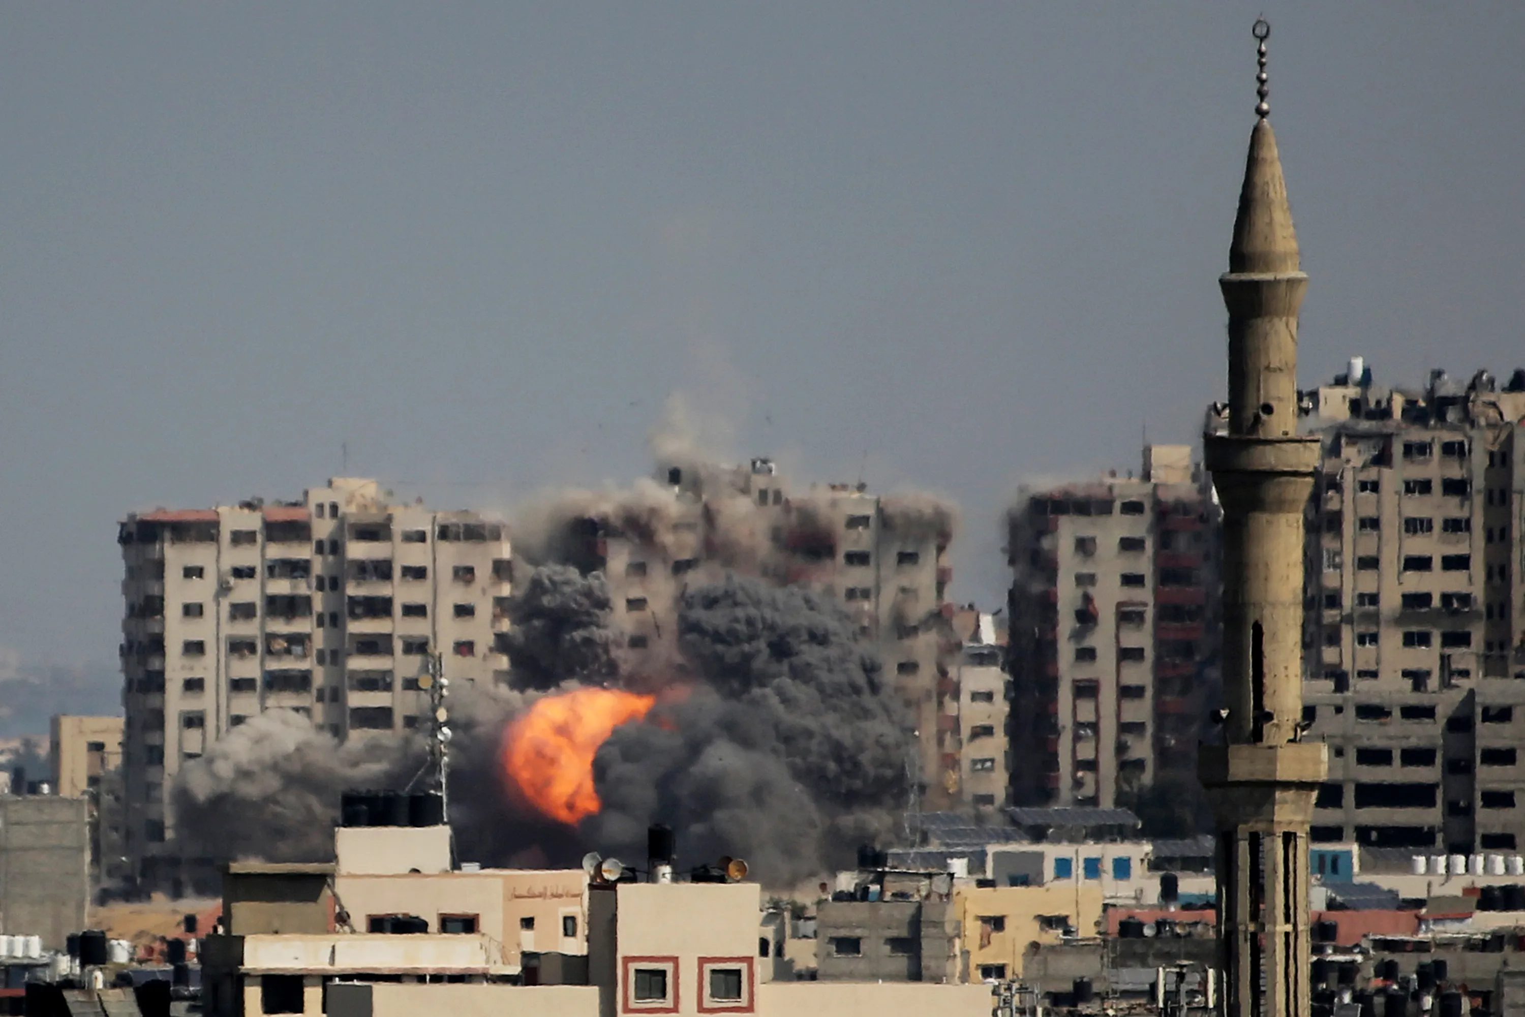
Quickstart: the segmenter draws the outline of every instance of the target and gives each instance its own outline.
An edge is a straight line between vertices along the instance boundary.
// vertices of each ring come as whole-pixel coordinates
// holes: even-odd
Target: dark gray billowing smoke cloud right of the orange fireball
[[[892,837],[910,724],[836,602],[729,576],[685,593],[679,631],[700,683],[599,750],[595,846],[636,858],[663,822],[685,863],[791,886]]]

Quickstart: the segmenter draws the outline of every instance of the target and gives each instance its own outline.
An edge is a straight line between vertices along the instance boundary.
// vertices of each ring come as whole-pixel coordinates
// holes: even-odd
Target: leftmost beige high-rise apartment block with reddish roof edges
[[[336,738],[427,726],[418,677],[506,679],[512,566],[502,521],[387,505],[339,477],[300,502],[128,515],[122,675],[131,878],[181,872],[171,782],[268,709]]]

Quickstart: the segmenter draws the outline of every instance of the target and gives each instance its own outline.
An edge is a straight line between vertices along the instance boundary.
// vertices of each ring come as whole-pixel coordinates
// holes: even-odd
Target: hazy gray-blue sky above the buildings
[[[114,660],[130,509],[508,506],[671,392],[994,596],[1019,480],[1225,387],[1263,9],[1304,384],[1525,364],[1519,3],[5,5],[0,654]]]

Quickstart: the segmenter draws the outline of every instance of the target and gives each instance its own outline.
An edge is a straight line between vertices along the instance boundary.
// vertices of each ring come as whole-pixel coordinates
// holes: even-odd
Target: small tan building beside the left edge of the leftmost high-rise
[[[49,755],[53,793],[82,797],[90,814],[90,869],[95,883],[122,880],[122,723],[120,717],[55,714]]]

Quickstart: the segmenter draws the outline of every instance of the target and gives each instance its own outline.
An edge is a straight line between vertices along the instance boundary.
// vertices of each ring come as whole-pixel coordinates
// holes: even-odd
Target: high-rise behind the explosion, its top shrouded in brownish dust
[[[569,558],[608,578],[625,666],[680,666],[677,599],[727,570],[833,596],[877,648],[912,711],[920,804],[936,810],[958,802],[961,738],[950,680],[958,645],[944,613],[950,511],[923,496],[869,494],[863,485],[791,492],[769,459],[659,464],[654,480],[640,500],[569,521]]]

